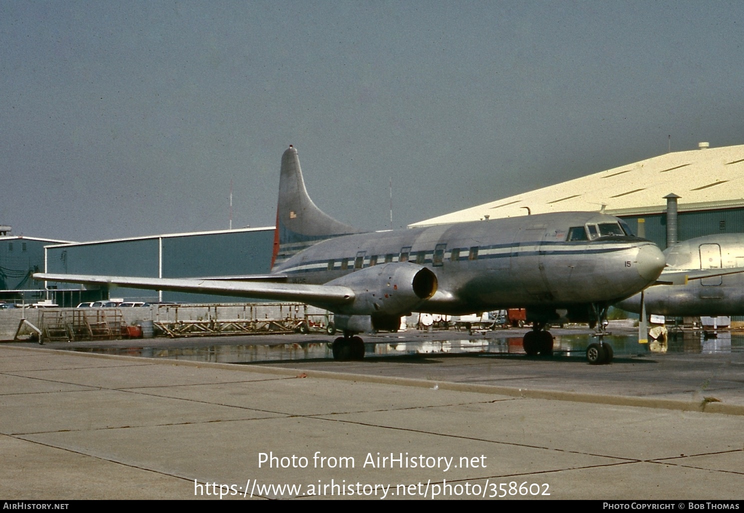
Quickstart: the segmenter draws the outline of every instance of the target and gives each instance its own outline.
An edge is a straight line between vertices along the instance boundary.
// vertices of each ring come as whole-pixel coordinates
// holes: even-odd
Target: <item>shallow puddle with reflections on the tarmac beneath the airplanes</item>
[[[656,353],[730,353],[744,351],[744,334],[719,332],[717,338],[705,339],[700,332],[670,334],[667,341],[650,341],[650,344],[639,344],[638,337],[632,335],[615,335],[606,337],[615,348],[615,357],[631,357]],[[199,345],[195,342],[190,347],[109,347],[87,346],[71,348],[105,354],[127,354],[150,358],[172,358],[174,360],[191,360],[197,362],[217,363],[259,363],[291,360],[333,359],[330,344],[324,341],[283,343],[283,344],[213,344]],[[555,337],[555,360],[564,357],[584,357],[586,346],[594,342],[594,337],[586,334],[561,335]],[[183,343],[181,342],[181,345]],[[522,350],[520,338],[493,338],[475,340],[411,340],[409,337],[391,338],[390,342],[365,344],[365,357],[394,357],[414,354],[483,354],[483,355],[519,355]]]

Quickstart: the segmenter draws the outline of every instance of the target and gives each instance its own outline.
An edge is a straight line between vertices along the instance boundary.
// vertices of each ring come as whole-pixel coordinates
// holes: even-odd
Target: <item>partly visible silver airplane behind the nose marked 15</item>
[[[744,234],[705,235],[664,250],[667,268],[655,287],[615,305],[668,316],[744,315]],[[642,298],[641,298],[642,296]],[[645,315],[644,315],[645,317]]]

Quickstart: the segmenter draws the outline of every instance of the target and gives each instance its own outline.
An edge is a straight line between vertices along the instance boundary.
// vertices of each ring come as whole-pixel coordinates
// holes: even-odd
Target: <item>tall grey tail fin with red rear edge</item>
[[[352,233],[363,230],[333,219],[312,203],[302,179],[297,150],[290,145],[281,158],[272,267],[320,240]]]

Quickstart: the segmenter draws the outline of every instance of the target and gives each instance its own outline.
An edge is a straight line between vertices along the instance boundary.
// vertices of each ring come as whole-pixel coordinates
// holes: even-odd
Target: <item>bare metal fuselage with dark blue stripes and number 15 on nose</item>
[[[416,307],[429,313],[609,304],[652,283],[664,261],[648,240],[567,241],[571,227],[603,222],[617,218],[564,212],[344,235],[310,246],[273,272],[292,283],[326,284],[408,261],[436,275],[437,292]]]

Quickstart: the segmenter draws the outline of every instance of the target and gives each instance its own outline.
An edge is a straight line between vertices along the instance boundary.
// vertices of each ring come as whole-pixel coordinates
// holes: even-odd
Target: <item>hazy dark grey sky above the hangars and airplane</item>
[[[0,224],[95,240],[405,226],[744,143],[741,1],[0,1]],[[661,191],[666,193],[668,191]]]

